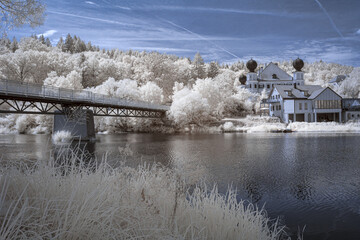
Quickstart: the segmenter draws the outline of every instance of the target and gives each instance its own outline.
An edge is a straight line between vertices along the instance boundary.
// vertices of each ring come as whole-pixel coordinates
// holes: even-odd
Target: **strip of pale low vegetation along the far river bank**
[[[222,133],[222,132],[360,132],[360,122],[294,122],[281,123],[278,118],[251,116],[224,118],[203,124],[176,126],[164,124],[159,119],[95,118],[98,134],[133,133]],[[52,133],[52,116],[7,115],[0,118],[0,134],[49,134]]]

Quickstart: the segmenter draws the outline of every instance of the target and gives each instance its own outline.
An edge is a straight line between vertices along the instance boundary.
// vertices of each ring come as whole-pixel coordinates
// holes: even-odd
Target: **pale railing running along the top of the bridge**
[[[40,84],[30,84],[18,81],[0,80],[0,93],[6,95],[21,95],[24,97],[41,97],[56,100],[85,101],[96,104],[109,104],[121,107],[142,108],[167,111],[168,107],[143,101],[128,101],[86,90],[71,90]],[[60,102],[59,102],[60,103]]]

